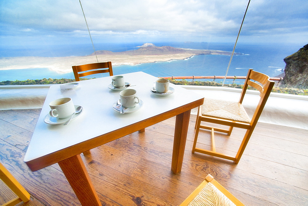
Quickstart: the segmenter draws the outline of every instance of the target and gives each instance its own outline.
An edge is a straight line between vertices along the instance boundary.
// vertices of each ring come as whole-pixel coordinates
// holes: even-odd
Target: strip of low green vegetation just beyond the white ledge
[[[80,80],[87,80],[87,78],[80,78]],[[180,84],[180,85],[196,85],[196,86],[222,86],[222,82],[215,81],[187,81],[187,80],[171,80],[172,84]],[[24,80],[24,81],[2,81],[0,85],[29,85],[29,84],[64,84],[69,82],[74,82],[75,79],[41,79],[41,80]],[[226,87],[238,88],[242,89],[242,84],[224,84]],[[248,88],[254,89],[254,88]],[[285,94],[297,94],[297,95],[305,95],[308,96],[308,89],[297,89],[297,88],[280,88],[274,87],[272,92],[276,93],[285,93]]]

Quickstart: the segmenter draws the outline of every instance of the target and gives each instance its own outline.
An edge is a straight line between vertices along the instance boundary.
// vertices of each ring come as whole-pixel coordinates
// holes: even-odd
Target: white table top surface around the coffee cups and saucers
[[[120,99],[120,91],[111,90],[111,76],[79,81],[79,86],[70,93],[61,94],[60,85],[52,85],[33,132],[24,161],[28,162],[58,150],[71,147],[91,138],[98,137],[136,122],[146,120],[191,102],[203,99],[199,94],[170,84],[175,92],[160,97],[150,92],[158,79],[144,72],[123,74],[125,82],[136,89],[137,96],[144,102],[143,107],[134,112],[120,114],[112,105]],[[62,97],[71,97],[74,105],[81,105],[83,113],[68,125],[49,125],[44,117],[49,113],[49,103]]]

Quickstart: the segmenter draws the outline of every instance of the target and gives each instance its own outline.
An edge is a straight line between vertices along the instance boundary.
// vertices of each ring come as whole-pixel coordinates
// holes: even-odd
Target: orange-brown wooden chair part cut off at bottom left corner
[[[18,196],[2,205],[16,205],[20,202],[30,200],[30,194],[24,187],[13,177],[13,175],[0,163],[0,179]]]

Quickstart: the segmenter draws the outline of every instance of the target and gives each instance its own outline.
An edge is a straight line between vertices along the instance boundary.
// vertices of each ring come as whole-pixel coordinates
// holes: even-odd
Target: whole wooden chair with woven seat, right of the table
[[[252,81],[254,80],[254,81]],[[259,82],[260,84],[256,83]],[[257,89],[260,92],[260,101],[257,105],[255,112],[253,113],[253,117],[250,119],[242,106],[243,98],[246,93],[247,87],[251,86]],[[253,69],[249,69],[243,90],[241,92],[241,96],[238,102],[230,102],[230,101],[222,101],[222,100],[214,100],[214,99],[206,99],[204,100],[204,104],[199,106],[197,120],[196,120],[196,135],[193,143],[193,151],[200,152],[207,155],[212,155],[215,157],[220,157],[224,159],[233,160],[236,164],[239,162],[245,147],[249,141],[251,134],[257,124],[257,121],[262,113],[262,110],[265,106],[265,103],[270,96],[270,92],[274,86],[274,81],[270,80],[270,77],[253,71]],[[220,125],[229,126],[229,130],[210,127],[201,125],[201,121],[203,122],[211,122]],[[225,155],[222,153],[216,152],[215,148],[215,139],[214,139],[214,131],[227,133],[230,135],[233,127],[246,129],[245,136],[241,142],[241,146],[239,147],[237,154],[235,157]],[[199,129],[208,129],[211,130],[212,136],[212,150],[204,150],[200,148],[196,148],[197,138]]]

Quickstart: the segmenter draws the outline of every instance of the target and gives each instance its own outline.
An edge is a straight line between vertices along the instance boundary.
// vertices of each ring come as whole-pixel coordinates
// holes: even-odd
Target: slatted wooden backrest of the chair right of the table
[[[256,83],[256,81],[258,83]],[[259,96],[261,98],[255,112],[253,113],[253,117],[250,121],[251,126],[254,127],[257,124],[258,119],[264,109],[265,103],[268,97],[270,96],[270,92],[274,87],[274,84],[275,82],[271,81],[269,76],[262,74],[260,72],[253,71],[253,69],[249,69],[239,102],[240,103],[243,102],[248,85],[257,89],[260,92]]]

